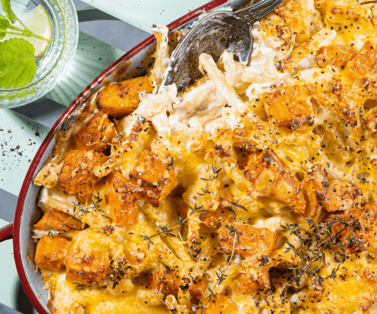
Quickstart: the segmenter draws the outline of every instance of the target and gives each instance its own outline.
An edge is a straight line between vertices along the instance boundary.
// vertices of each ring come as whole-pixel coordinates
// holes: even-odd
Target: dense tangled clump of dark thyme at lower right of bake
[[[294,267],[289,267],[289,269],[295,275],[291,280],[295,280],[296,284],[300,285],[301,277],[304,274],[313,275],[317,273],[322,265],[326,265],[326,255],[325,249],[336,249],[337,254],[341,256],[341,260],[338,263],[337,268],[332,270],[332,273],[326,278],[333,278],[336,275],[336,272],[339,270],[340,266],[344,263],[346,258],[346,251],[348,246],[351,242],[359,244],[360,242],[356,239],[355,232],[353,228],[357,228],[359,225],[358,219],[352,219],[350,222],[347,222],[337,216],[334,217],[334,220],[328,221],[322,224],[316,224],[310,219],[306,219],[309,226],[300,226],[298,224],[287,224],[287,226],[281,226],[283,228],[282,233],[290,232],[290,235],[295,234],[300,241],[302,242],[302,248],[297,249],[293,244],[287,241],[288,247],[286,247],[287,251],[293,251],[295,253],[295,257],[299,257],[301,261],[298,265]],[[335,223],[340,223],[343,227],[334,235],[332,235],[332,227]],[[303,238],[300,233],[298,232],[299,228],[309,228],[311,231],[310,236],[308,238]],[[349,235],[346,239],[346,247],[344,248],[342,245],[341,240],[339,239],[339,235],[345,231],[349,230]],[[318,263],[318,265],[313,268],[313,266]]]

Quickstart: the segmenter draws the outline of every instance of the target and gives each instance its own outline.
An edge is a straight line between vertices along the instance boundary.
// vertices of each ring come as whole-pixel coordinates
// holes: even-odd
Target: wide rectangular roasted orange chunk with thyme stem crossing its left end
[[[258,253],[271,254],[277,235],[266,228],[258,229],[252,226],[235,225],[234,223],[226,224],[220,228],[219,252],[225,254],[232,252],[234,238],[236,239],[234,253],[246,257]]]

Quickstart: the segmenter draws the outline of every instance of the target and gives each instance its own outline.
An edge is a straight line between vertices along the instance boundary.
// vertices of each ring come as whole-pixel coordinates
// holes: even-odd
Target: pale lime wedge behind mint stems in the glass
[[[46,39],[51,39],[51,21],[48,17],[46,10],[42,7],[42,5],[37,6],[24,16],[20,15],[19,18],[22,21],[22,23],[34,34]],[[24,29],[24,27],[18,21],[13,25],[18,28]],[[5,41],[11,38],[23,38],[30,42],[34,46],[35,56],[44,54],[48,48],[47,41],[35,37],[7,34],[1,41]]]

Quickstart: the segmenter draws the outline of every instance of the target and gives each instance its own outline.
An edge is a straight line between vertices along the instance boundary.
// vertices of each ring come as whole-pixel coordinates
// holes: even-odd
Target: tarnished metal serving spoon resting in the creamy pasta
[[[215,61],[228,50],[237,61],[246,64],[253,47],[251,26],[270,14],[283,0],[261,0],[245,9],[229,12],[217,11],[209,14],[186,34],[173,51],[169,61],[171,70],[163,79],[163,85],[175,83],[178,92],[199,79],[201,53],[211,55]]]

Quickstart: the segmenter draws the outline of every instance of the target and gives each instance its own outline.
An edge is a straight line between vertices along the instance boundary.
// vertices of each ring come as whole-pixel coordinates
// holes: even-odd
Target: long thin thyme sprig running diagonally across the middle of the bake
[[[215,181],[217,179],[217,177],[219,176],[219,173],[220,173],[220,171],[222,169],[223,168],[217,169],[216,167],[212,166],[212,171],[213,171],[214,175],[210,176],[209,178],[201,178],[201,179],[204,180],[204,181]],[[165,227],[157,226],[158,228],[161,229],[160,232],[158,232],[158,233],[156,233],[154,235],[151,235],[151,236],[139,235],[139,237],[143,238],[143,240],[147,240],[148,241],[148,250],[149,250],[150,245],[153,244],[153,241],[151,240],[152,238],[154,238],[156,236],[159,236],[161,234],[165,234],[168,237],[176,237],[174,234],[171,233],[175,228],[177,228],[177,227],[185,224],[187,222],[187,220],[189,220],[189,218],[191,216],[193,216],[194,214],[203,214],[203,213],[207,213],[208,212],[207,210],[202,210],[203,205],[201,205],[201,202],[204,199],[204,195],[212,193],[209,190],[209,187],[210,187],[210,185],[207,183],[205,188],[202,187],[202,191],[201,192],[197,192],[197,194],[201,195],[202,197],[201,197],[201,199],[200,199],[200,201],[198,203],[195,203],[194,207],[192,207],[190,204],[186,203],[187,207],[190,208],[191,212],[183,220],[181,219],[181,217],[179,217],[179,220],[178,219],[174,220],[174,222],[177,223],[177,225],[175,225],[174,227],[171,227],[171,228],[168,228],[167,226],[165,226]]]

